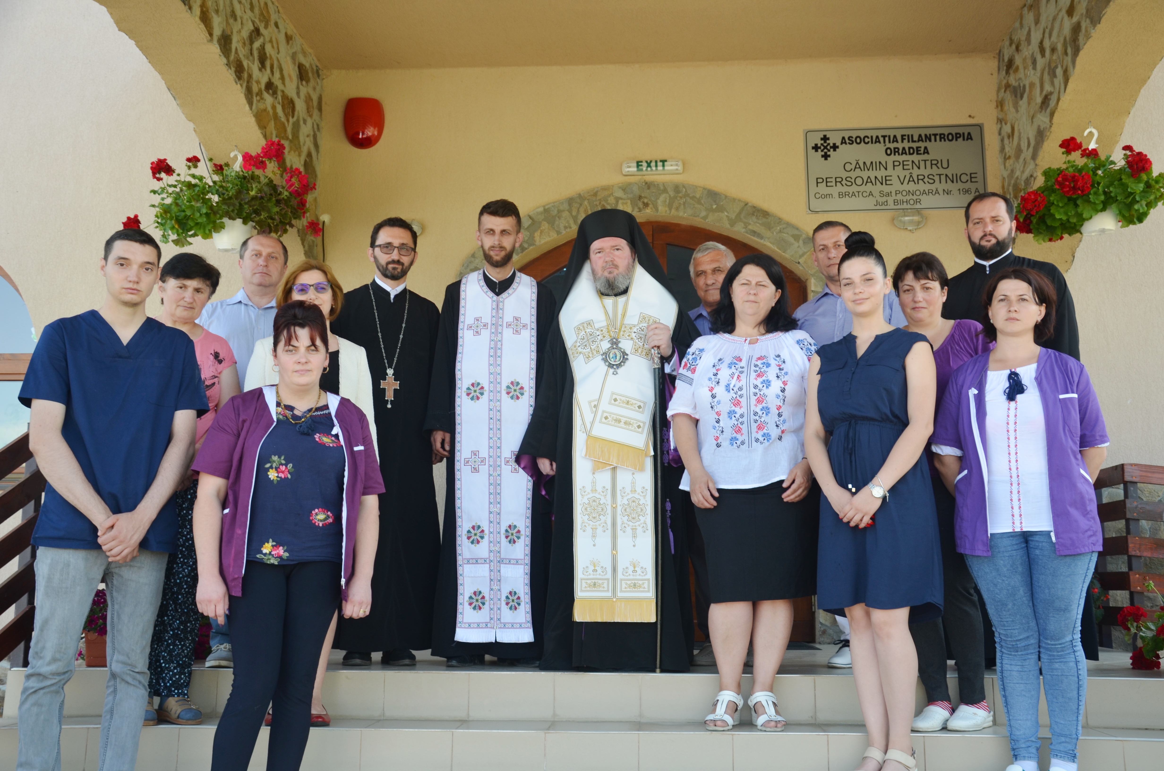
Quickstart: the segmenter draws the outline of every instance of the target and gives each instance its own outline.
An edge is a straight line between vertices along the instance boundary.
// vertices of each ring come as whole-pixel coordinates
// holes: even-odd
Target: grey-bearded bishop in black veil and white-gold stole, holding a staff
[[[665,473],[656,496],[655,464],[668,453],[652,438],[666,410],[652,348],[674,372],[698,332],[627,212],[582,220],[566,278],[519,450],[555,480],[541,669],[653,671],[659,644],[658,665],[683,672],[691,652],[688,574],[679,565],[686,523],[682,507],[667,507],[683,494]]]

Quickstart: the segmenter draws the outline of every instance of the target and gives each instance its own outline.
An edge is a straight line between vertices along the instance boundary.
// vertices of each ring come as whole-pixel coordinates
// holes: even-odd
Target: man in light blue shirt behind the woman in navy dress
[[[853,316],[840,299],[840,257],[845,254],[845,239],[852,233],[844,222],[829,220],[812,231],[812,263],[824,276],[821,293],[796,309],[793,318],[797,326],[812,335],[818,346],[836,342],[853,331]],[[901,312],[897,292],[889,291],[883,300],[885,320],[894,326],[909,321]]]

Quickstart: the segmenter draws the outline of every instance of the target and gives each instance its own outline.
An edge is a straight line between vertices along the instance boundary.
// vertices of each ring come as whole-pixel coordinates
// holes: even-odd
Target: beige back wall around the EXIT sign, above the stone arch
[[[803,129],[982,122],[987,177],[999,182],[996,57],[336,71],[324,82],[320,211],[326,257],[346,285],[370,278],[371,225],[424,226],[410,287],[440,302],[475,247],[481,204],[523,211],[598,185],[630,182],[632,158],[681,158],[656,178],[711,188],[804,228]],[[357,150],[343,137],[350,97],[384,104],[385,135]],[[960,270],[971,257],[960,211],[927,212],[915,234],[892,213],[844,214],[890,262],[931,250]]]

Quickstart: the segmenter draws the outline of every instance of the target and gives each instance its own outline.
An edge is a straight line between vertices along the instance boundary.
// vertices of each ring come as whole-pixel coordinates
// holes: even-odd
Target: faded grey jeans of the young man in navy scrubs
[[[142,550],[126,564],[100,549],[36,550],[36,627],[20,693],[17,771],[61,771],[65,684],[98,583],[109,602],[109,673],[101,713],[100,771],[133,771],[146,709],[149,644],[169,554]]]

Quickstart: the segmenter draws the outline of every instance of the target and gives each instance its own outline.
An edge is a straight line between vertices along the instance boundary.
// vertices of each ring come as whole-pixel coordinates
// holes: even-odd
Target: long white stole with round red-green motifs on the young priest
[[[533,480],[518,467],[517,450],[537,388],[538,284],[519,273],[496,296],[483,273],[461,278],[457,319],[454,638],[531,643]]]

